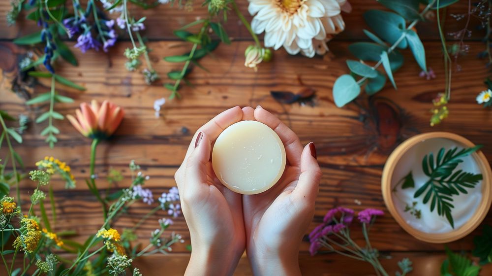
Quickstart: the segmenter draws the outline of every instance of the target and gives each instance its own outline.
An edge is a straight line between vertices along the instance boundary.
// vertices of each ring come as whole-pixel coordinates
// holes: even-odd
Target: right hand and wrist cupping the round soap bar
[[[299,247],[314,214],[321,171],[311,142],[302,147],[297,135],[258,106],[244,109],[243,120],[272,128],[287,155],[285,171],[270,190],[243,195],[246,253],[254,275],[300,275]]]

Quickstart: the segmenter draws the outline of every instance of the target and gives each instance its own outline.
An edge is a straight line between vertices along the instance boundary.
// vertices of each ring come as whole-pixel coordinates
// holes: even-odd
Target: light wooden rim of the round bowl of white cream
[[[413,228],[412,226],[410,226],[405,222],[405,220],[401,217],[400,213],[395,207],[395,203],[393,202],[393,196],[391,191],[392,190],[391,181],[393,178],[392,176],[398,162],[407,151],[411,150],[416,144],[433,138],[450,139],[457,142],[458,144],[461,144],[463,147],[475,146],[475,144],[473,144],[470,140],[461,137],[457,134],[448,133],[448,132],[424,133],[409,138],[403,143],[401,143],[388,157],[381,178],[381,190],[386,207],[390,211],[391,215],[398,222],[398,224],[400,224],[400,226],[406,232],[408,232],[408,234],[424,242],[431,242],[431,243],[453,242],[470,234],[473,230],[475,230],[475,228],[477,228],[480,225],[482,220],[487,215],[492,202],[492,191],[491,191],[492,171],[489,162],[487,161],[487,158],[485,158],[485,155],[481,151],[476,151],[471,155],[475,159],[475,162],[477,163],[477,166],[483,175],[482,201],[480,205],[477,207],[476,212],[473,214],[473,216],[460,228],[454,229],[451,232],[447,232],[447,233],[425,233]]]

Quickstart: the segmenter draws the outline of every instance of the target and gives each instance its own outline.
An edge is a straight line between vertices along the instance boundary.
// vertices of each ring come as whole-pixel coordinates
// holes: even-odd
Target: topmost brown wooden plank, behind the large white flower
[[[84,4],[86,1],[81,1]],[[381,4],[375,0],[351,0],[353,10],[351,13],[343,13],[343,18],[346,24],[346,30],[339,35],[337,39],[359,40],[367,39],[363,33],[363,29],[368,27],[364,23],[363,14],[369,9],[385,9]],[[251,22],[251,16],[247,12],[248,1],[237,1],[240,10],[245,14],[246,19]],[[202,2],[195,2],[192,6],[185,9],[180,9],[176,5],[159,5],[149,10],[143,10],[137,6],[130,5],[130,13],[140,18],[147,17],[146,25],[147,30],[145,34],[150,39],[176,39],[173,36],[173,30],[177,30],[187,23],[193,22],[197,18],[205,18],[207,16],[207,7],[202,7]],[[462,14],[468,9],[468,1],[460,1],[452,5],[448,9],[448,14]],[[9,1],[0,1],[0,17],[5,18],[7,12],[10,10]],[[27,14],[23,13],[20,19]],[[110,15],[110,17],[116,18],[118,15]],[[435,12],[431,12],[430,20],[427,23],[420,23],[417,25],[419,35],[422,39],[436,40],[438,39],[438,30],[435,22]],[[452,17],[448,17],[446,21],[446,33],[452,33],[460,31],[464,28],[466,20],[457,21]],[[485,32],[476,30],[476,26],[479,25],[479,21],[476,17],[471,18],[470,30],[472,34],[470,37],[466,36],[465,40],[480,40],[484,37]],[[159,26],[159,27],[157,27]],[[251,40],[251,36],[247,33],[246,28],[242,25],[238,17],[234,12],[228,13],[228,23],[225,24],[227,33],[238,40],[248,39]],[[37,31],[38,27],[35,22],[28,20],[19,20],[16,26],[7,26],[5,20],[0,20],[0,38],[12,39],[21,35],[26,35]]]

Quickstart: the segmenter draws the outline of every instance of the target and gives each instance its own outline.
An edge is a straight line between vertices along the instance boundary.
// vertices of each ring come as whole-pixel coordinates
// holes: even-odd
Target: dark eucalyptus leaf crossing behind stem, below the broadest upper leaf
[[[388,47],[371,43],[371,42],[356,42],[348,46],[348,50],[358,59],[363,61],[378,62],[382,51],[387,51]],[[389,55],[391,69],[396,71],[403,65],[403,55],[394,50]]]

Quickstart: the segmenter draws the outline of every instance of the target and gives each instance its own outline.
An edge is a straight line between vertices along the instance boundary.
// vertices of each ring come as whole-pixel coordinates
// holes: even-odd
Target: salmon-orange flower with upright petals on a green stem
[[[120,126],[124,111],[120,106],[108,101],[101,105],[92,100],[91,105],[80,104],[80,109],[75,110],[76,117],[66,117],[83,136],[90,138],[108,138]]]

